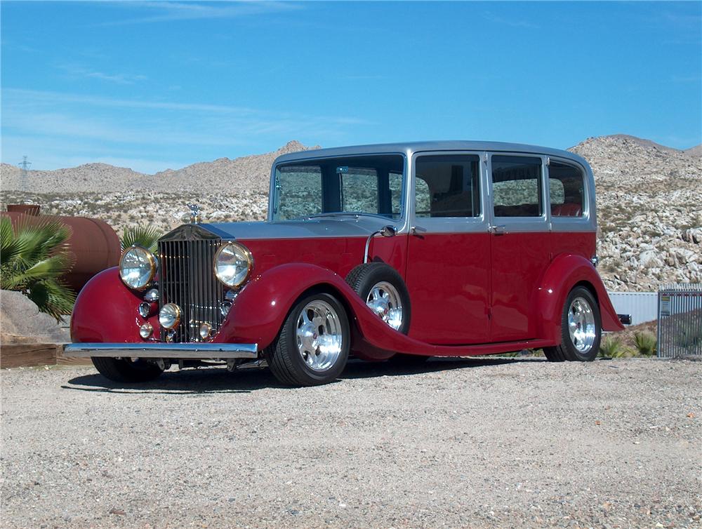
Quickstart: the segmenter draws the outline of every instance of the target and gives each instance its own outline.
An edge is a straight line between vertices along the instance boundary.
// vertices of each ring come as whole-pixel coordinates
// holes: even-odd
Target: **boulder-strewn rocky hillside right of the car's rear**
[[[569,149],[595,173],[600,273],[613,290],[702,282],[702,156],[633,136]]]

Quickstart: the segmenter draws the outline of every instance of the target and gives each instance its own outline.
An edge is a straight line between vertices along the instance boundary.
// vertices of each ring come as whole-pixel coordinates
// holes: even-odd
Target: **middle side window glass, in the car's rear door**
[[[541,158],[493,156],[492,197],[496,217],[541,217]]]

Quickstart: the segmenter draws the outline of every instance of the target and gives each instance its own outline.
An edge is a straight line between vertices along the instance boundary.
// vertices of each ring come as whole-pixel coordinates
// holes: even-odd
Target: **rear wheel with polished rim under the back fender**
[[[602,320],[595,297],[585,287],[570,291],[561,314],[561,344],[543,349],[552,362],[595,360],[600,351]]]

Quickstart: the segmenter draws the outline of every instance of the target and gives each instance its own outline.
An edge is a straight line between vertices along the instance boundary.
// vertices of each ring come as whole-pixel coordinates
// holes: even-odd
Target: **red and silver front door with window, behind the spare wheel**
[[[489,340],[490,239],[482,154],[425,152],[411,160],[406,283],[410,336],[432,344]]]

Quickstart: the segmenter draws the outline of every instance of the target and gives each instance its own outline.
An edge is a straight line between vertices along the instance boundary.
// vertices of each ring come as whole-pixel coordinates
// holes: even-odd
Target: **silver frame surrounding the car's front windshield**
[[[359,212],[359,211],[327,211],[327,212],[322,212],[322,213],[317,213],[317,214],[310,214],[310,215],[304,215],[301,217],[296,217],[296,218],[291,218],[291,219],[284,219],[284,220],[277,220],[274,218],[274,210],[277,206],[277,203],[279,201],[279,189],[277,186],[277,180],[276,180],[276,173],[277,169],[280,166],[289,166],[289,165],[304,165],[305,163],[309,163],[310,165],[315,165],[317,163],[324,163],[328,162],[329,160],[334,160],[334,159],[352,159],[352,158],[368,158],[368,157],[376,157],[376,156],[401,156],[402,157],[402,185],[400,188],[400,193],[399,193],[399,198],[400,198],[400,215],[397,218],[393,217],[388,217],[386,215],[381,215],[379,213],[366,213],[366,212]],[[319,219],[319,218],[333,218],[334,215],[338,215],[339,217],[345,217],[345,216],[362,216],[362,217],[372,217],[372,218],[377,218],[378,220],[384,220],[385,222],[388,222],[390,224],[395,224],[398,226],[404,225],[406,222],[406,219],[408,218],[408,203],[407,203],[407,193],[409,189],[409,156],[407,155],[406,152],[359,152],[355,154],[343,154],[343,155],[336,155],[336,156],[310,156],[309,158],[303,158],[303,159],[296,159],[294,161],[287,160],[287,161],[279,161],[277,163],[273,163],[273,166],[271,168],[271,174],[270,174],[270,190],[269,190],[269,200],[268,200],[268,215],[267,215],[267,221],[268,222],[300,222],[304,220],[310,220],[311,218],[313,219]]]

